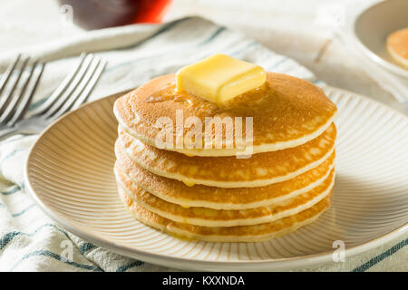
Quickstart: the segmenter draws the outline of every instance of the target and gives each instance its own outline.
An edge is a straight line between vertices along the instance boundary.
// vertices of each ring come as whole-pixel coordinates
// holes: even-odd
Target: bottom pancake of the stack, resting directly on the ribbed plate
[[[296,215],[280,218],[270,223],[238,227],[200,227],[163,218],[133,202],[123,192],[123,189],[119,188],[118,191],[126,208],[143,224],[176,237],[209,242],[258,242],[286,235],[299,227],[314,222],[327,208],[330,208],[332,196],[332,194],[329,194],[328,197],[319,201],[315,206],[307,208]]]

